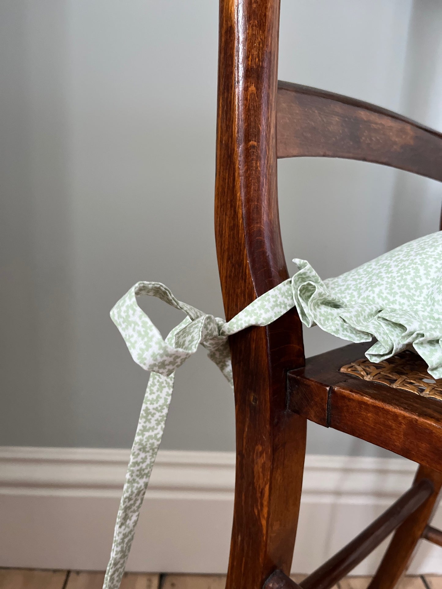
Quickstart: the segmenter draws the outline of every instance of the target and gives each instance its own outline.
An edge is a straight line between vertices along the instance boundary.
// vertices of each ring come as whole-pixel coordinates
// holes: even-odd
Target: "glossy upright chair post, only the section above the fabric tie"
[[[276,188],[278,20],[278,0],[220,2],[215,231],[227,320],[288,277]],[[233,266],[242,292],[229,281]]]

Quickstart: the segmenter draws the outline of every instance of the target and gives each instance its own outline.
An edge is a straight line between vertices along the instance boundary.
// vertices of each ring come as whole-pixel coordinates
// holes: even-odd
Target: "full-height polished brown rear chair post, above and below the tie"
[[[276,196],[279,0],[221,0],[215,236],[227,320],[288,277]],[[227,589],[289,573],[305,419],[286,411],[286,371],[304,365],[293,310],[230,337],[236,486]]]

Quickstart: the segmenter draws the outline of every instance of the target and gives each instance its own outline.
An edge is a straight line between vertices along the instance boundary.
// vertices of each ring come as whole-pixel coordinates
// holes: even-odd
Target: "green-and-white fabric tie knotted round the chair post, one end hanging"
[[[186,313],[186,319],[171,330],[166,340],[138,306],[136,297],[141,294],[155,296]],[[138,282],[111,310],[111,318],[132,358],[151,373],[130,453],[103,589],[118,589],[123,578],[141,504],[163,435],[175,370],[202,344],[233,387],[227,337],[246,327],[269,325],[293,306],[292,280],[288,279],[226,323],[180,302],[160,282]]]

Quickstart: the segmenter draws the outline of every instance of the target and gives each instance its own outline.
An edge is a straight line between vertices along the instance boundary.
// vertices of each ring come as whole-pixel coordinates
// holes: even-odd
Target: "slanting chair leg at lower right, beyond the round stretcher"
[[[390,545],[382,558],[381,564],[372,578],[368,589],[391,589],[408,568],[415,548],[420,540],[427,522],[431,519],[438,504],[442,487],[442,473],[427,466],[419,466],[414,480],[430,479],[434,492],[410,517],[405,519],[392,537]]]

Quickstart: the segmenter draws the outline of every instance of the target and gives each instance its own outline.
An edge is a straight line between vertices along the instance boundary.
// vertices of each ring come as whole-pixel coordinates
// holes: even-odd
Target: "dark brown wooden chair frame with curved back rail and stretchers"
[[[288,278],[277,157],[371,161],[442,181],[442,135],[394,112],[277,81],[279,0],[220,0],[215,231],[226,319]],[[366,344],[305,361],[296,310],[230,337],[236,488],[227,589],[299,587],[291,566],[306,420],[418,462],[413,487],[302,589],[332,587],[393,530],[371,589],[393,587],[442,485],[442,404],[340,372]],[[302,538],[299,538],[302,542]]]

